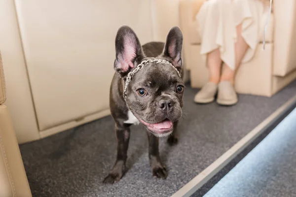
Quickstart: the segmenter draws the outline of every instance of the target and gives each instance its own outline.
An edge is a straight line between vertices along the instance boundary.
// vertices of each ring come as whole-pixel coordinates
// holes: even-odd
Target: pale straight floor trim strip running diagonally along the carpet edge
[[[296,103],[296,96],[288,100],[285,104],[279,107],[268,118],[261,122],[254,130],[250,131],[245,137],[233,145],[228,151],[226,151],[220,158],[209,165],[201,173],[195,176],[179,191],[173,194],[171,197],[190,197],[195,191],[203,186],[208,180],[210,180],[215,174],[217,174],[226,164],[228,164],[233,158],[241,153],[249,144],[251,144],[265,128],[270,126],[276,118],[281,116]]]

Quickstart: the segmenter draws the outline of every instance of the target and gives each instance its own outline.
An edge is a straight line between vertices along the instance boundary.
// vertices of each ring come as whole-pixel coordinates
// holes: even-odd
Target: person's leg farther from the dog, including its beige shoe
[[[231,69],[229,66],[224,65],[222,69],[220,83],[218,85],[219,92],[217,102],[221,105],[233,105],[236,104],[238,101],[237,95],[234,90],[235,74],[249,48],[248,44],[241,35],[242,26],[238,25],[236,31],[237,41],[234,44],[235,68]]]

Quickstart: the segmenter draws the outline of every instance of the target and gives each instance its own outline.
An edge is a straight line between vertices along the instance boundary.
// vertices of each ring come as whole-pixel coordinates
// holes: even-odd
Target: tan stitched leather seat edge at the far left
[[[32,197],[7,107],[0,53],[0,197]]]

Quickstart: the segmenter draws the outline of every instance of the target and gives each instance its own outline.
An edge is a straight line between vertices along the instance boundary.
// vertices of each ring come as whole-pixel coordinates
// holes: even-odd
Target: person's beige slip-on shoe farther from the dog
[[[220,105],[234,105],[237,101],[237,95],[231,82],[221,81],[218,84],[217,103]]]

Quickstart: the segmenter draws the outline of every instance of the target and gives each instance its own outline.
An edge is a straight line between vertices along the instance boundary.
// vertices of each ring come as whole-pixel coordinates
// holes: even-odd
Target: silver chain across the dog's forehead
[[[164,64],[168,64],[170,66],[172,66],[178,73],[178,75],[181,78],[181,74],[180,72],[177,70],[177,68],[175,66],[173,66],[169,61],[166,60],[161,60],[161,59],[148,59],[148,60],[144,60],[141,62],[141,64],[139,64],[133,71],[129,72],[127,74],[126,80],[125,80],[125,85],[124,85],[124,92],[123,92],[123,98],[126,99],[126,90],[127,90],[127,86],[129,84],[129,82],[131,81],[132,77],[135,75],[136,72],[138,72],[139,70],[141,70],[145,65],[147,65],[148,63],[155,63],[155,64],[160,64],[160,63],[164,63]]]

